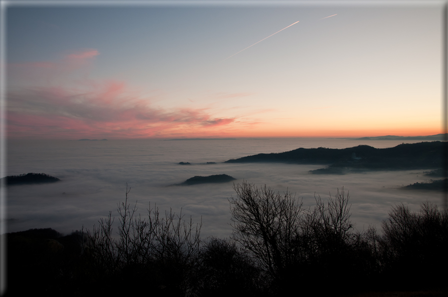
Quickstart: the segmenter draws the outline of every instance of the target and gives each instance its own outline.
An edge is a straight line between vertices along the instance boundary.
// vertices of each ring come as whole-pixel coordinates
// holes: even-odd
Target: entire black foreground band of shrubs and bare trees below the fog
[[[447,294],[448,214],[397,205],[358,232],[342,191],[314,208],[287,192],[243,182],[230,197],[233,234],[200,238],[180,213],[118,205],[86,232],[7,234],[8,293],[16,296],[353,296],[366,292]],[[4,235],[3,235],[4,236]],[[379,294],[379,293],[369,293]],[[438,295],[440,294],[440,295]],[[364,295],[378,296],[378,295]],[[398,295],[395,295],[398,296]]]

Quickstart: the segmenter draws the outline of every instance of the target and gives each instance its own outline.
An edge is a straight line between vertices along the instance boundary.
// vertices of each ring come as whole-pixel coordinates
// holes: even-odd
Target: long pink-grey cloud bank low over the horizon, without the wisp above
[[[147,138],[219,133],[233,118],[206,109],[164,110],[129,96],[123,82],[95,88],[30,88],[8,94],[9,138]],[[218,130],[216,130],[218,129]]]

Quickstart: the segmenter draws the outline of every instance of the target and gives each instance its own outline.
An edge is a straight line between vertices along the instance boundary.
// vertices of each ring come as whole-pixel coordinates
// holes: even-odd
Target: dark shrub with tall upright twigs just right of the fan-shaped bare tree
[[[298,238],[304,261],[300,277],[320,293],[350,293],[375,288],[378,235],[374,227],[360,233],[351,222],[349,193],[344,187],[324,202],[315,197]],[[319,275],[319,278],[315,276]],[[351,285],[341,286],[350,275]],[[325,280],[326,286],[320,286]],[[313,289],[314,290],[314,289]]]

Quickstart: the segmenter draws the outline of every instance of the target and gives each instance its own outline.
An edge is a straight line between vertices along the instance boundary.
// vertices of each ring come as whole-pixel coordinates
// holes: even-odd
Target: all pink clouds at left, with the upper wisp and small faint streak
[[[56,61],[9,64],[14,87],[7,94],[8,137],[204,137],[227,135],[244,125],[237,117],[214,117],[208,108],[157,108],[125,82],[89,79],[86,66],[98,55],[96,49],[85,49]],[[219,93],[223,98],[248,95]]]

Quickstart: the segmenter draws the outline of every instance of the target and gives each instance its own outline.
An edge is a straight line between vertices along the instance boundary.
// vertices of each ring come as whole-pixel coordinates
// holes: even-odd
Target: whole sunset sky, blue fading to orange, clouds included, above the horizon
[[[442,3],[9,5],[7,136],[442,133]]]

